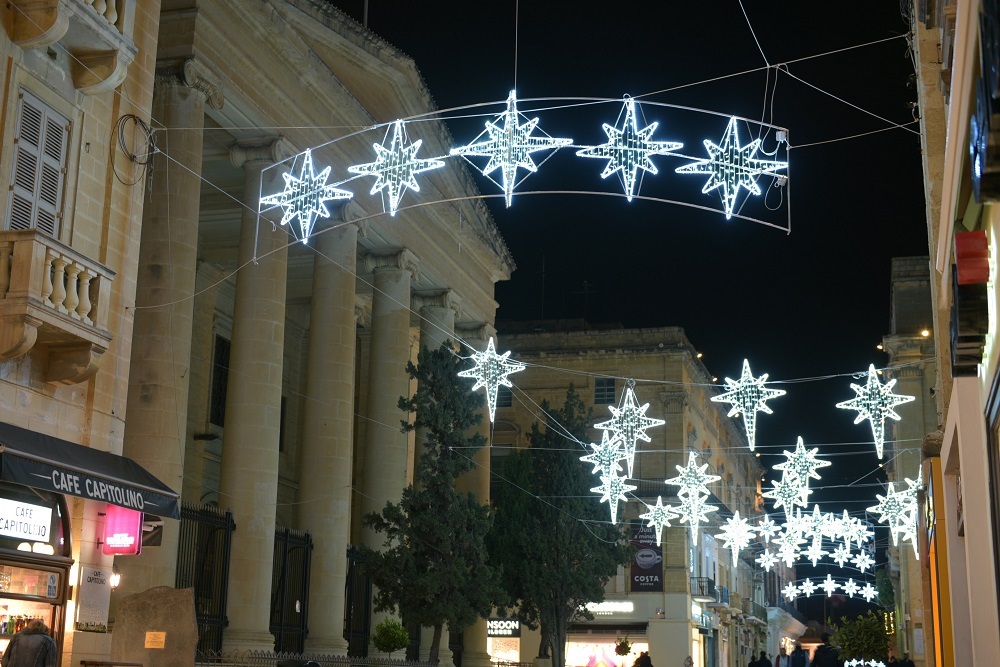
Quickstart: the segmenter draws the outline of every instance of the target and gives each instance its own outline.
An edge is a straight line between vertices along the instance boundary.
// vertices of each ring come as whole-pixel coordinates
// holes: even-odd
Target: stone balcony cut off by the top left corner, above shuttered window
[[[73,85],[82,93],[114,90],[137,49],[128,36],[135,0],[8,0],[7,36],[22,49],[57,42],[70,54]]]

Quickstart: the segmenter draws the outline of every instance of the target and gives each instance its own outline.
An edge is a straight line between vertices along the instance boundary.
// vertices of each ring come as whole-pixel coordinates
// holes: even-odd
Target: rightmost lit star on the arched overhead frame
[[[726,209],[726,220],[733,217],[736,199],[740,188],[750,194],[759,195],[760,186],[757,178],[764,174],[778,176],[778,171],[788,168],[787,162],[777,160],[762,160],[756,157],[760,148],[760,139],[754,139],[746,146],[740,146],[739,130],[736,118],[729,119],[722,144],[705,139],[705,150],[708,159],[697,160],[676,169],[678,174],[707,174],[708,181],[701,189],[702,194],[713,190],[721,190],[722,205]]]

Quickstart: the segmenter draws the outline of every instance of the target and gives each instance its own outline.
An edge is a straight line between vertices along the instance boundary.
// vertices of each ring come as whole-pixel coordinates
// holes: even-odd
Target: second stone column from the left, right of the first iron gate
[[[229,627],[223,649],[270,651],[271,564],[281,371],[285,340],[288,243],[282,227],[258,220],[261,172],[291,153],[284,140],[237,144],[230,158],[246,172],[240,224],[239,265],[233,305],[233,341],[222,441],[220,504],[233,511],[229,570]],[[259,230],[258,230],[259,227]],[[256,262],[252,261],[256,258]]]

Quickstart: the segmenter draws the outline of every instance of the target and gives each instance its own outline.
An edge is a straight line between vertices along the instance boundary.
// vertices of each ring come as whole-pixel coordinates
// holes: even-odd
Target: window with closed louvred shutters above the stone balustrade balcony
[[[10,170],[8,229],[38,229],[55,238],[62,217],[69,121],[22,90]]]

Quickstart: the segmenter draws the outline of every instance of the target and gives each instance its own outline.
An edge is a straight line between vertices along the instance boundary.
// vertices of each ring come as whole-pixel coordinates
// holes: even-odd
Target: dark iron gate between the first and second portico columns
[[[181,506],[177,545],[177,588],[194,589],[198,650],[222,649],[229,588],[229,552],[233,541],[232,512],[205,505]]]

